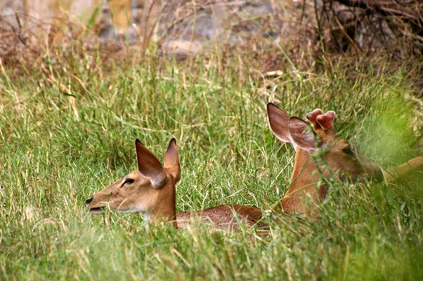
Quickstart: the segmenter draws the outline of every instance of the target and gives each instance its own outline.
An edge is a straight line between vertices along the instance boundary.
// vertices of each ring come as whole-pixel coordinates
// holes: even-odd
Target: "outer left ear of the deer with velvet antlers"
[[[289,116],[271,102],[267,104],[267,115],[273,134],[282,142],[292,142],[289,135]]]

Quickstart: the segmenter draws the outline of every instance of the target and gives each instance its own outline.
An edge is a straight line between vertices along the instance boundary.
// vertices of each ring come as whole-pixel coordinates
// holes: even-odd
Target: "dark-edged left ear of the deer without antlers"
[[[141,175],[150,179],[152,186],[160,188],[166,181],[166,173],[160,161],[148,149],[136,139],[136,158],[138,160],[138,170]]]

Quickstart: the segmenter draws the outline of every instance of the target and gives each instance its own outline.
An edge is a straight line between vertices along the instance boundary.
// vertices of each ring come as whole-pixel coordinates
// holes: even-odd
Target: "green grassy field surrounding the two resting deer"
[[[318,221],[268,221],[268,237],[247,226],[146,232],[139,214],[84,208],[136,168],[136,138],[162,160],[176,137],[178,211],[266,210],[285,193],[294,158],[268,128],[269,101],[301,118],[334,110],[341,137],[384,167],[399,165],[422,153],[421,100],[410,97],[406,71],[334,67],[263,81],[243,69],[240,81],[238,71],[215,67],[219,57],[109,71],[63,65],[47,67],[53,83],[45,71],[2,70],[1,280],[423,279],[422,174],[391,186],[334,182]]]

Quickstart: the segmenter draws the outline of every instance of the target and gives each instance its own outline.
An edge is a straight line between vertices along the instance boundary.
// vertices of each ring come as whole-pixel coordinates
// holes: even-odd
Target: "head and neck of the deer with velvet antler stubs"
[[[313,110],[306,116],[311,125],[301,118],[289,117],[272,103],[268,103],[267,112],[272,132],[282,142],[291,143],[296,151],[290,188],[282,199],[285,212],[304,212],[307,198],[314,203],[323,200],[327,186],[322,182],[318,186],[322,177],[384,179],[379,165],[335,134],[334,111],[323,114],[321,109]]]

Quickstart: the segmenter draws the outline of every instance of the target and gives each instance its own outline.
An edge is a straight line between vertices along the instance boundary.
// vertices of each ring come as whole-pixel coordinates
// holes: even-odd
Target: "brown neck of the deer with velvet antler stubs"
[[[310,200],[314,205],[325,198],[327,193],[325,184],[317,187],[320,178],[318,173],[314,173],[317,169],[315,160],[308,151],[297,146],[290,187],[281,200],[284,212],[306,212]]]

